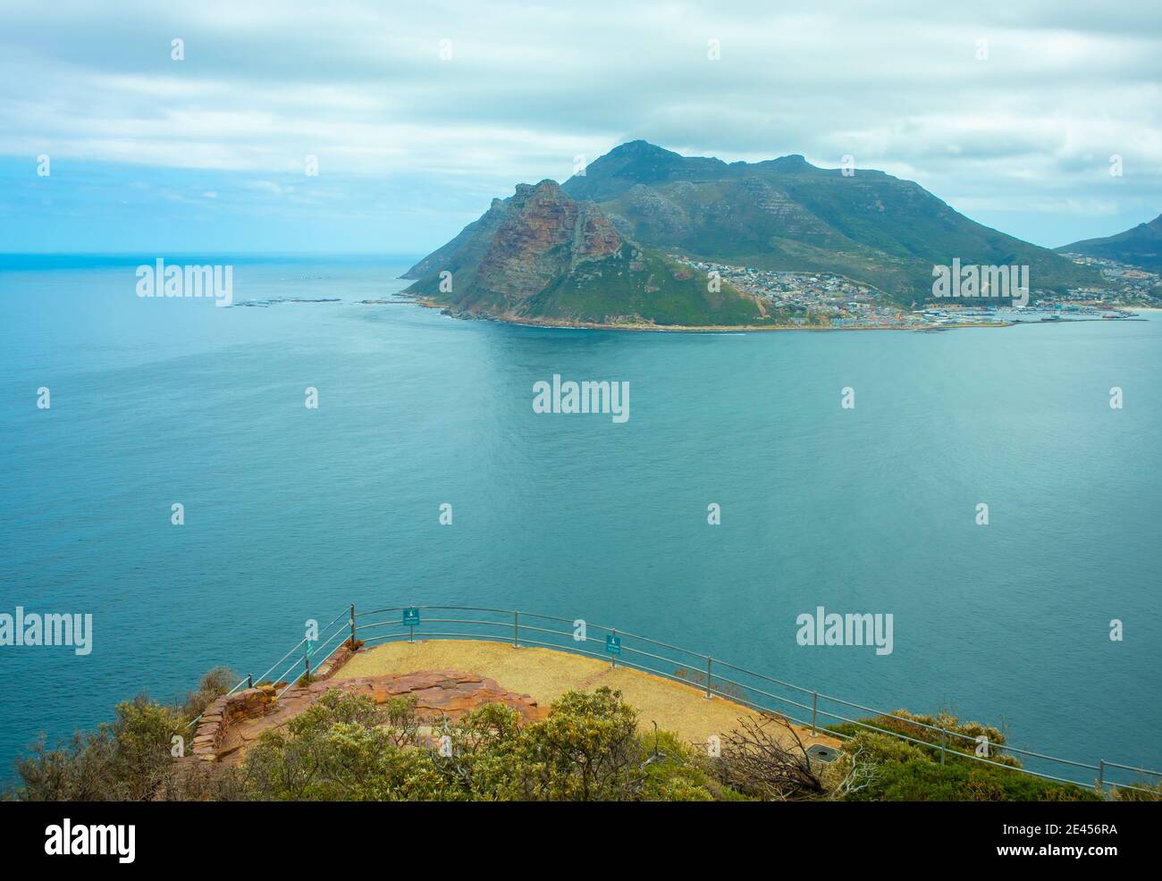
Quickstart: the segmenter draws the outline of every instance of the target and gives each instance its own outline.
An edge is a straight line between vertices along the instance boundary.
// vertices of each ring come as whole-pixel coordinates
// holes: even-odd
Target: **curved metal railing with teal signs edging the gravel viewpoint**
[[[468,614],[468,616],[450,616],[461,613]],[[418,618],[418,623],[409,625],[407,622],[409,614],[414,614]],[[429,617],[429,615],[435,616]],[[554,624],[565,624],[568,629],[554,629],[552,626]],[[419,629],[418,633],[417,628]],[[590,636],[590,631],[601,633],[602,637]],[[978,737],[844,701],[817,689],[804,688],[739,667],[720,658],[624,630],[591,624],[581,618],[571,619],[487,606],[388,606],[357,613],[352,603],[345,611],[320,629],[317,640],[300,640],[265,673],[257,679],[251,675],[243,678],[227,694],[234,694],[243,687],[252,687],[256,681],[270,681],[279,688],[278,695],[282,696],[300,680],[300,675],[309,680],[311,665],[314,664],[314,669],[317,671],[342,645],[346,644],[346,638],[350,638],[352,645],[357,640],[363,640],[366,645],[380,645],[400,640],[415,642],[417,636],[424,639],[483,639],[510,643],[516,647],[537,646],[600,658],[608,660],[614,667],[621,665],[696,687],[704,693],[706,699],[722,697],[752,710],[776,712],[803,728],[810,728],[812,735],[818,733],[822,728],[827,736],[848,739],[853,737],[852,733],[837,731],[832,726],[854,725],[860,730],[874,731],[914,744],[933,753],[939,752],[941,764],[945,764],[951,753],[957,759],[1030,774],[1042,780],[1083,787],[1092,786],[1103,795],[1106,795],[1107,790],[1114,787],[1157,795],[1157,790],[1113,781],[1110,776],[1111,771],[1129,772],[1139,778],[1152,776],[1162,780],[1162,772],[1149,768],[1122,765],[1105,759],[1100,759],[1097,765],[1091,765],[1021,750],[1009,743],[985,742],[985,754],[978,755],[977,750],[981,746]],[[345,638],[336,642],[339,637]],[[601,646],[602,651],[595,651],[591,644]],[[295,656],[295,652],[300,652],[300,650],[301,653]],[[324,650],[325,653],[323,653]],[[290,660],[289,666],[284,668],[282,673],[268,679],[275,668],[284,665],[293,656],[293,660]],[[295,671],[300,667],[302,673],[295,675]],[[729,675],[724,675],[723,671]],[[288,679],[288,676],[290,678]],[[858,714],[870,714],[870,718],[856,718]],[[830,722],[825,719],[830,719]],[[883,728],[882,724],[873,724],[881,719],[899,722],[913,733],[927,732],[932,739],[912,737],[904,731]],[[193,725],[195,722],[198,719],[189,724]],[[937,742],[938,736],[939,743]],[[954,745],[956,739],[967,743],[962,743],[961,747],[957,749]],[[1023,766],[1014,767],[996,760],[1003,755],[1019,757]],[[1055,773],[1049,773],[1050,769]],[[1078,779],[1079,772],[1093,772],[1096,776]],[[1066,773],[1073,773],[1074,776],[1061,776]]]

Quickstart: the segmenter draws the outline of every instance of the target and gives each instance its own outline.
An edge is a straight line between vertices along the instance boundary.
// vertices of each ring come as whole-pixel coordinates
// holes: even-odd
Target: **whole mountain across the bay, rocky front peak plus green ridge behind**
[[[983,227],[918,184],[881,171],[686,157],[645,141],[569,178],[519,185],[416,264],[413,294],[468,314],[594,323],[746,324],[763,307],[677,263],[831,272],[901,306],[932,296],[932,267],[1028,265],[1032,288],[1064,292],[1099,274]],[[440,291],[439,273],[452,273]],[[446,286],[446,285],[445,285]]]

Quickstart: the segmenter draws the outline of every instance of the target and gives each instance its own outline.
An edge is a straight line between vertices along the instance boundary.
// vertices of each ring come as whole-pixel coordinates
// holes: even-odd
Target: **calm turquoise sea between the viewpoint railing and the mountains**
[[[0,263],[0,613],[95,631],[87,657],[0,647],[5,766],[138,690],[265,669],[350,602],[584,617],[1162,765],[1162,316],[545,330],[358,303],[406,260],[218,258],[236,302],[339,299],[230,309],[138,299],[148,262]],[[535,414],[554,373],[629,381],[630,420]],[[817,606],[891,613],[894,652],[797,645]]]

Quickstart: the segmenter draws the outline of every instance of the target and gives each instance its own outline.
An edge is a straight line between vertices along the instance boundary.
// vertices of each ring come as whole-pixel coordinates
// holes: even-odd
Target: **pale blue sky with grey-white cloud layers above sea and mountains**
[[[0,0],[2,251],[422,253],[634,138],[1110,235],[1162,213],[1162,3]]]

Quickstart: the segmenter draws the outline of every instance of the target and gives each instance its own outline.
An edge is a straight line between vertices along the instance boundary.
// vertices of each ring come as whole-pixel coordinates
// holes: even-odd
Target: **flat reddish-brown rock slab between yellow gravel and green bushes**
[[[231,724],[218,747],[218,761],[225,764],[241,761],[245,747],[257,740],[264,731],[282,728],[332,689],[365,694],[375,703],[386,703],[394,697],[415,697],[417,712],[425,719],[446,716],[456,721],[464,712],[487,703],[511,707],[526,719],[544,718],[548,715],[548,709],[538,705],[529,695],[509,692],[494,679],[458,669],[357,676],[343,681],[324,680],[289,688],[273,704],[275,709],[272,712]]]

